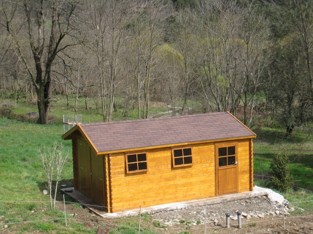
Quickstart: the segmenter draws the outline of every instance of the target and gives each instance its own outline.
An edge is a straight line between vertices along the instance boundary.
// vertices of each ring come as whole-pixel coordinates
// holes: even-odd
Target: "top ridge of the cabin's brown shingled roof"
[[[223,112],[209,112],[209,113],[201,113],[201,114],[166,116],[166,117],[148,118],[148,119],[131,119],[131,120],[120,120],[120,121],[111,121],[111,122],[94,122],[94,123],[81,124],[81,126],[86,126],[86,125],[96,126],[96,125],[143,122],[143,121],[156,121],[156,120],[166,120],[166,119],[181,119],[181,118],[192,118],[195,116],[216,115],[216,114],[227,114],[227,112],[226,111],[225,112],[224,111]]]

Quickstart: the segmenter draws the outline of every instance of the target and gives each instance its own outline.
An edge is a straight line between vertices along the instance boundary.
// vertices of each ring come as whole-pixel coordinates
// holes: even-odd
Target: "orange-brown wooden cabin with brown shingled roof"
[[[256,137],[229,112],[77,124],[74,189],[108,212],[253,190]]]

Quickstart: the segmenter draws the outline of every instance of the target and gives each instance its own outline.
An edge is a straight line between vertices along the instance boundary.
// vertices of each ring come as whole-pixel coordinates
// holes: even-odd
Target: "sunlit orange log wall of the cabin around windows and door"
[[[238,140],[238,188],[250,189],[250,139]],[[219,142],[221,143],[221,142]],[[227,143],[227,142],[225,142]],[[147,171],[126,173],[125,153],[111,154],[111,212],[215,196],[215,144],[184,145],[192,147],[192,166],[173,167],[172,148],[145,150]],[[140,151],[133,151],[134,153]],[[108,174],[107,174],[108,175]]]

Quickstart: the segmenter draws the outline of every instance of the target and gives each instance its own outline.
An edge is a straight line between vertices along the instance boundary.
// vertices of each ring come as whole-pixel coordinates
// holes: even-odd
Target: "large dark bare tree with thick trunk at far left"
[[[15,44],[15,54],[36,88],[39,123],[46,124],[52,99],[54,62],[66,48],[77,44],[74,38],[63,44],[66,36],[76,32],[73,26],[77,2],[3,0],[2,3],[10,7],[2,9],[7,17],[1,24],[6,26]]]

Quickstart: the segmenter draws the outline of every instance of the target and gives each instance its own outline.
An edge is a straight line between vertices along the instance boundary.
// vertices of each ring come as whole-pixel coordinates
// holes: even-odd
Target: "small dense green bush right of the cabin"
[[[288,156],[282,153],[276,154],[271,162],[271,180],[274,186],[282,192],[286,192],[293,185],[288,163]]]

